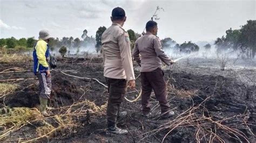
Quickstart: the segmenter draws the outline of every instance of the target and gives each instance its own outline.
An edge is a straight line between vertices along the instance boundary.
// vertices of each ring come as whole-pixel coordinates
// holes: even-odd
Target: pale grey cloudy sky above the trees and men
[[[125,9],[124,28],[141,33],[156,6],[159,11],[158,36],[171,37],[178,43],[192,40],[211,41],[256,19],[254,1],[23,1],[0,0],[0,38],[38,37],[45,28],[53,37],[79,37],[83,30],[95,37],[99,26],[111,25],[113,8]]]

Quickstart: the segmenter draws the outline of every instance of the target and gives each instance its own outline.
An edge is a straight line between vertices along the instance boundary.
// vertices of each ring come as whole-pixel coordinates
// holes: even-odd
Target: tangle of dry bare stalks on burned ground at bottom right
[[[204,106],[205,102],[209,98],[210,97],[207,97],[199,105],[193,105],[190,109],[179,113],[179,115],[173,120],[161,122],[161,125],[158,124],[159,126],[156,129],[140,134],[136,138],[143,137],[140,140],[144,140],[145,138],[156,135],[161,131],[167,131],[164,138],[161,140],[161,142],[165,142],[167,135],[171,134],[172,131],[177,128],[179,130],[183,127],[192,127],[196,129],[194,131],[194,135],[197,142],[225,142],[225,138],[220,137],[223,136],[223,134],[227,135],[227,137],[232,137],[238,142],[250,142],[250,139],[245,133],[235,127],[225,124],[225,122],[228,123],[234,119],[241,119],[240,124],[247,125],[246,121],[242,120],[247,115],[235,115],[225,119],[215,120],[208,114],[208,111]],[[198,112],[203,113],[203,115],[198,114]],[[252,131],[251,134],[253,134]]]

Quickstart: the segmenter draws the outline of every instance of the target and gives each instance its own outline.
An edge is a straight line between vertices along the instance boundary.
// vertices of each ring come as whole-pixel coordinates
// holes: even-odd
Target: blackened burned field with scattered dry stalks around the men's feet
[[[118,125],[129,133],[115,135],[105,132],[108,94],[99,83],[106,84],[102,58],[58,61],[52,71],[50,105],[55,109],[50,110],[50,117],[37,109],[38,83],[30,71],[32,61],[1,61],[0,84],[6,89],[0,92],[1,141],[255,142],[256,87],[252,84],[220,75],[165,70],[168,99],[176,115],[159,119],[153,93],[150,119],[142,116],[139,99],[124,99],[121,110],[128,116]],[[128,90],[126,95],[131,101],[140,90],[139,72],[135,73],[138,91]]]

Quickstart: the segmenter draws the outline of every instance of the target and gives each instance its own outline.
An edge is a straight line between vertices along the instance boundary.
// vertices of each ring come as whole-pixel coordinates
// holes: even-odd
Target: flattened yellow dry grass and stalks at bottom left
[[[55,115],[43,117],[35,108],[13,108],[10,112],[0,115],[0,141],[8,140],[8,135],[26,125],[36,124],[36,134],[30,138],[20,138],[19,141],[32,142],[40,139],[54,137],[57,133],[66,134],[75,132],[73,129],[80,126],[78,118],[90,116],[101,116],[106,111],[106,104],[97,106],[94,102],[83,101],[73,103],[71,106],[64,106],[52,110],[57,111]],[[87,115],[90,113],[90,115]],[[40,123],[41,126],[38,126]],[[34,125],[35,126],[35,125]]]

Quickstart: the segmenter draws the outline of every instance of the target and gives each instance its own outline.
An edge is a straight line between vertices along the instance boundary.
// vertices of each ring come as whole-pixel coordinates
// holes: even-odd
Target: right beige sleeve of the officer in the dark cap
[[[118,37],[118,45],[120,48],[120,55],[122,59],[123,68],[128,81],[135,80],[133,65],[132,65],[132,55],[129,35],[124,32]]]

